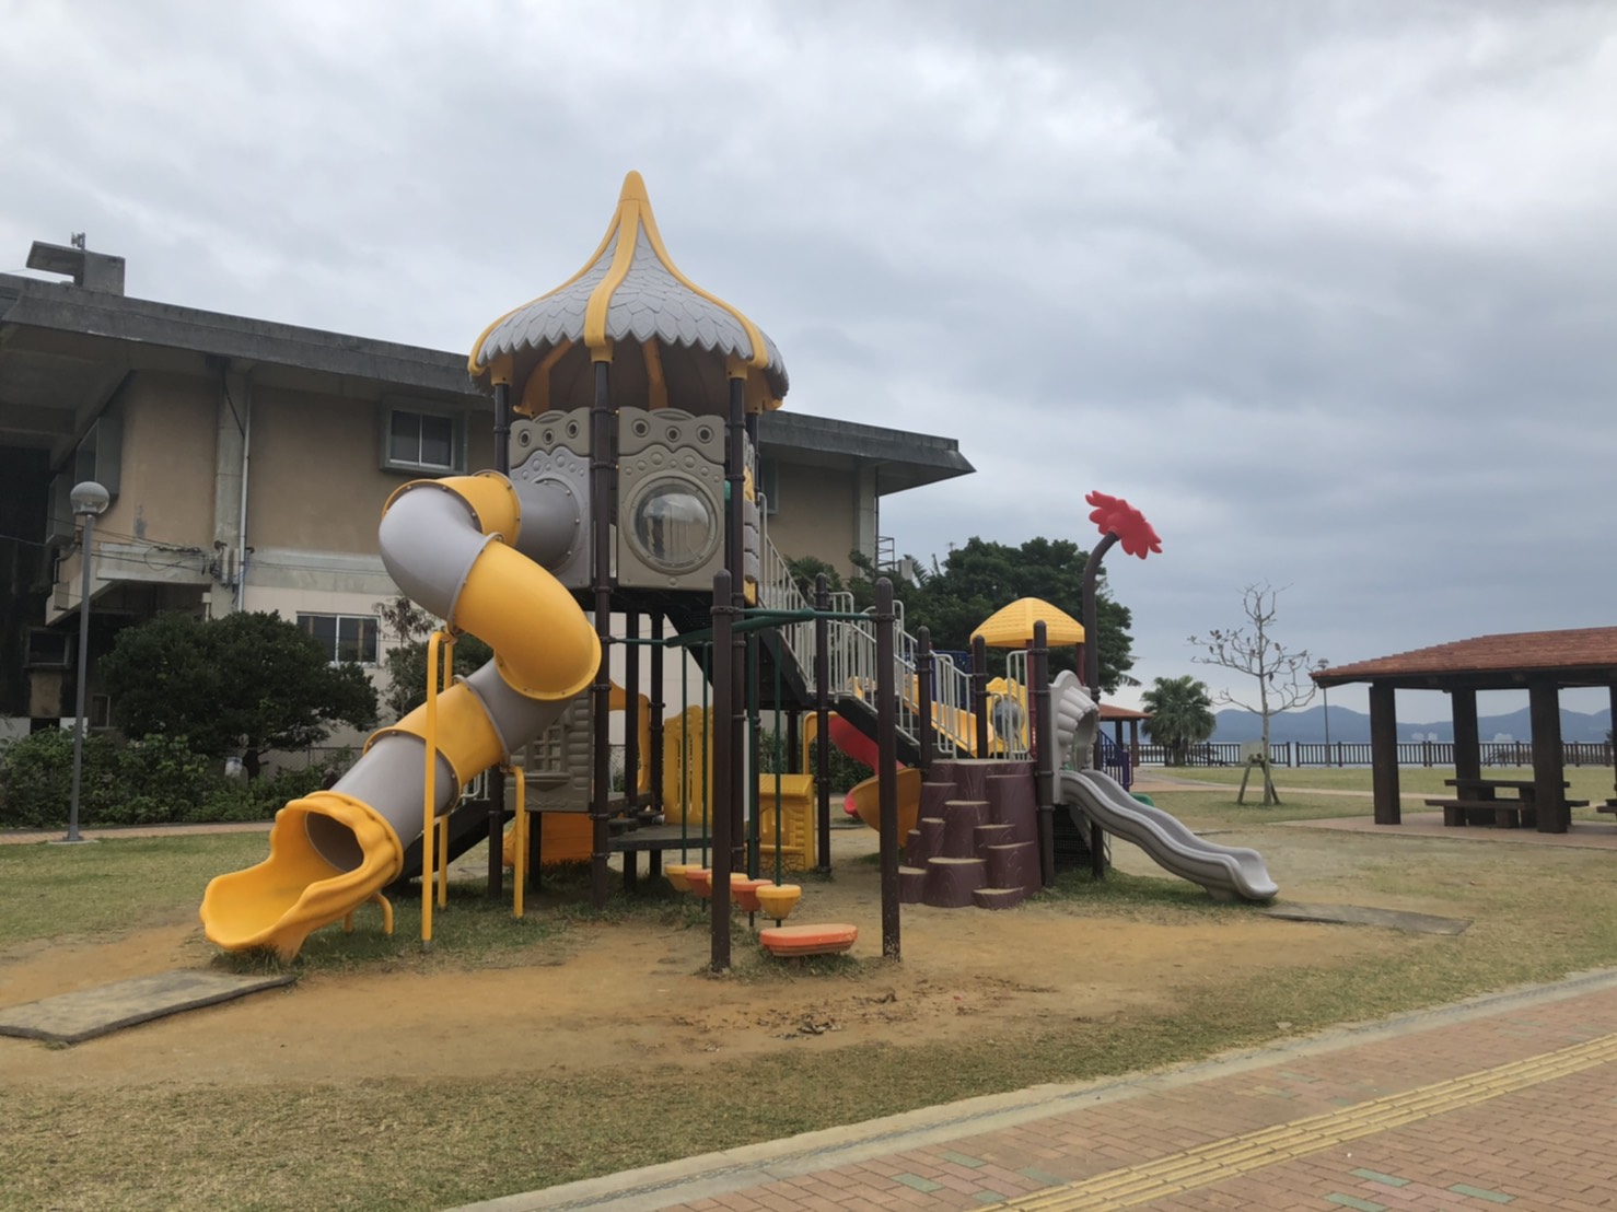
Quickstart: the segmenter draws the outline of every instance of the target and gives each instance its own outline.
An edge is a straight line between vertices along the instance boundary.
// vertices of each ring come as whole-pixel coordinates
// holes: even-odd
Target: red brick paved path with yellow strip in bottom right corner
[[[475,1207],[1617,1209],[1617,971]]]

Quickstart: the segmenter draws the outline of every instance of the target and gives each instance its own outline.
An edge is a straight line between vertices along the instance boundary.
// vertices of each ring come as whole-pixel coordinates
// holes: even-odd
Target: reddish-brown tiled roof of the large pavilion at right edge
[[[1478,635],[1408,653],[1339,664],[1313,674],[1319,685],[1347,682],[1418,682],[1471,679],[1504,682],[1530,674],[1578,674],[1578,680],[1617,677],[1617,627],[1580,627],[1562,632]]]

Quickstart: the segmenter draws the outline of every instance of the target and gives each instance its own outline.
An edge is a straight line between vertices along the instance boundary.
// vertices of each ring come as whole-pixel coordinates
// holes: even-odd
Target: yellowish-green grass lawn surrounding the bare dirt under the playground
[[[1441,781],[1441,772],[1433,774]],[[786,1044],[766,1055],[678,1065],[626,1055],[593,1068],[534,1067],[513,1055],[508,1073],[480,1079],[420,1076],[401,1058],[395,1076],[365,1079],[285,1081],[268,1070],[234,1083],[42,1083],[5,1076],[5,1049],[39,1046],[0,1041],[8,1143],[0,1207],[443,1207],[977,1094],[1171,1065],[1617,962],[1611,892],[1617,853],[1420,839],[1389,844],[1271,827],[1360,810],[1352,798],[1307,792],[1277,810],[1234,805],[1229,792],[1155,798],[1192,827],[1235,832],[1266,853],[1297,856],[1313,847],[1308,853],[1321,863],[1340,866],[1344,900],[1416,898],[1475,924],[1454,937],[1384,932],[1374,936],[1371,950],[1342,958],[1321,947],[1316,960],[1290,966],[1253,955],[1242,971],[1216,981],[1184,983],[1172,971],[1156,971],[1151,979],[1161,999],[1124,1005],[1082,1026],[1070,1015],[1030,1013],[985,1039],[982,1033],[931,1037],[917,1023],[896,1044]],[[1368,802],[1362,811],[1368,813]],[[0,902],[0,965],[47,937],[116,939],[121,931],[194,921],[209,876],[262,855],[262,835],[131,839],[102,842],[94,852],[0,847],[8,890]],[[1442,855],[1441,861],[1433,855]],[[635,924],[699,928],[702,915],[692,902],[666,895],[614,898],[602,913],[558,905],[569,895],[561,879],[530,918],[513,921],[508,907],[482,900],[479,886],[453,890],[454,913],[443,916],[432,953],[422,955],[414,944],[416,905],[399,898],[393,941],[356,950],[335,932],[312,939],[298,966],[317,979],[294,995],[322,995],[330,987],[320,984],[322,971],[346,981],[344,989],[383,974],[429,978],[521,965],[563,965],[550,971],[566,979],[566,955],[585,932],[598,937],[602,929]],[[1108,934],[1142,924],[1218,931],[1255,913],[1216,905],[1182,881],[1124,873],[1101,884],[1067,873],[1036,903]],[[993,918],[1035,921],[1017,913]],[[1024,945],[1036,947],[1036,936]],[[893,970],[880,960],[783,974],[752,949],[737,947],[737,1005],[799,997],[815,983],[836,991],[863,987],[875,999],[891,981]],[[914,963],[925,963],[923,953]],[[610,1015],[610,1004],[600,1013]],[[535,1033],[543,1028],[534,1023]],[[141,1047],[141,1031],[113,1039]],[[445,1033],[438,1046],[467,1049],[477,1039],[462,1028],[459,1036]],[[50,1055],[71,1058],[73,1050]]]

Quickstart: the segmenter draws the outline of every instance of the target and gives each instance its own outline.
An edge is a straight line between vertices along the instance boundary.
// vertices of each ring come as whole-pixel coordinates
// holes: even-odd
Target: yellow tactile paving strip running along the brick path
[[[1509,1065],[1480,1070],[1462,1078],[1416,1086],[1384,1099],[1229,1136],[1197,1149],[1159,1157],[1155,1162],[1111,1170],[990,1207],[1025,1209],[1027,1212],[1108,1212],[1109,1209],[1138,1207],[1153,1199],[1222,1183],[1276,1162],[1287,1162],[1336,1144],[1357,1141],[1362,1136],[1384,1133],[1462,1107],[1475,1107],[1502,1094],[1614,1060],[1617,1060],[1617,1034],[1601,1036],[1585,1044],[1572,1044],[1556,1052],[1514,1060]]]

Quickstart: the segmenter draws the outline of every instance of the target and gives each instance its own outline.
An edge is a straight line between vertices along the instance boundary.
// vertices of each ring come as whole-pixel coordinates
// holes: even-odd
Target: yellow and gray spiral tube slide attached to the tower
[[[576,528],[577,511],[556,488],[496,472],[414,480],[386,504],[378,540],[388,574],[411,600],[495,650],[438,695],[438,814],[595,677],[595,629],[543,567],[566,553]],[[335,787],[281,808],[264,863],[209,882],[202,924],[212,942],[289,960],[312,931],[401,874],[404,847],[422,832],[425,714],[420,706],[378,730]]]

